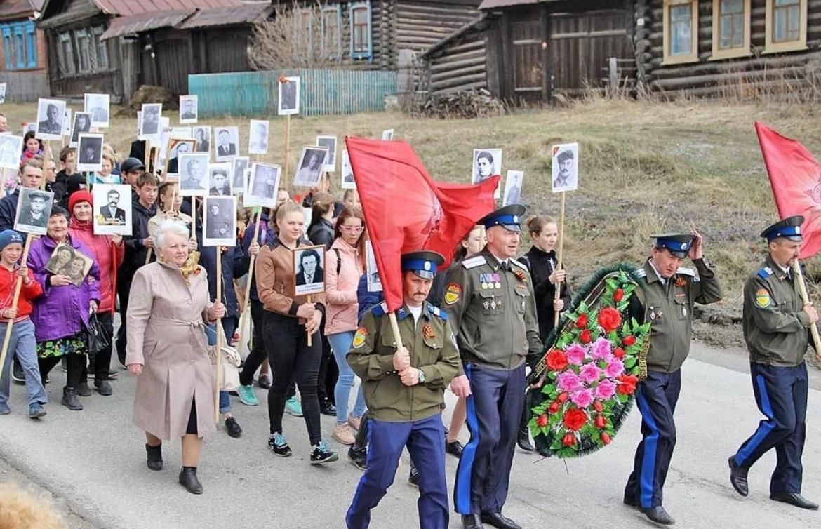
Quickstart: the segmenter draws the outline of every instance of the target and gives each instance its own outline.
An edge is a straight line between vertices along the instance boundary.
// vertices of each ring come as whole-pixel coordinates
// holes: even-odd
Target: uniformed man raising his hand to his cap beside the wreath
[[[624,490],[624,503],[640,508],[650,520],[675,523],[662,506],[662,489],[676,446],[676,411],[681,391],[681,364],[690,353],[693,306],[722,297],[713,267],[704,259],[699,232],[654,235],[652,255],[638,270],[641,290],[632,298],[631,312],[652,321],[647,377],[635,396],[641,413],[642,440],[635,450],[635,466]],[[690,257],[692,269],[681,268]]]

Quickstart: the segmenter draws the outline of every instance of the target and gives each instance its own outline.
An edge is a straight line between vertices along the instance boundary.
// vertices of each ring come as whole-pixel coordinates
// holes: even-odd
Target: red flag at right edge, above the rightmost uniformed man
[[[801,259],[821,251],[821,163],[800,141],[755,123],[761,154],[782,219],[803,215]]]

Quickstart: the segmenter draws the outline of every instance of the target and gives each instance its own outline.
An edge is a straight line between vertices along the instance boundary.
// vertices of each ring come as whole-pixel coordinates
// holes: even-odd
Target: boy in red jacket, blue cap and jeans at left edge
[[[11,358],[17,357],[25,371],[25,389],[29,392],[29,416],[38,419],[46,414],[48,403],[46,390],[40,380],[37,350],[34,342],[34,324],[31,323],[31,301],[43,294],[40,284],[25,266],[17,265],[23,253],[23,237],[14,230],[0,232],[0,336],[6,336],[6,328],[13,321],[6,361],[0,367],[0,415],[8,415],[8,396],[11,381]],[[23,278],[23,288],[17,308],[11,307],[17,278]],[[2,338],[0,338],[2,339]]]

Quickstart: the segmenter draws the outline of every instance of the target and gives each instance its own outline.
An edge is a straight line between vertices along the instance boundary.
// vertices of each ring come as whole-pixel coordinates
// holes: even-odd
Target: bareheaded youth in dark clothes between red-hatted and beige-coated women
[[[154,239],[149,232],[149,220],[157,214],[157,190],[159,179],[153,173],[142,173],[137,178],[137,201],[131,215],[131,235],[123,237],[126,255],[117,274],[117,295],[120,297],[120,329],[117,331],[117,357],[125,369],[126,361],[126,311],[128,311],[128,292],[131,290],[131,279],[140,266],[155,260]]]

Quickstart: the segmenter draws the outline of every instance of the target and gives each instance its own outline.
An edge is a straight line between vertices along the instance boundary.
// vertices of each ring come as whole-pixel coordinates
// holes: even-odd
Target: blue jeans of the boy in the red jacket
[[[0,337],[6,336],[7,324],[0,324]],[[0,338],[2,339],[2,338]],[[11,391],[11,359],[17,357],[25,372],[25,390],[29,393],[29,406],[48,403],[40,368],[37,363],[37,343],[34,341],[34,324],[31,320],[16,322],[11,327],[5,366],[0,366],[0,403],[7,403]]]

